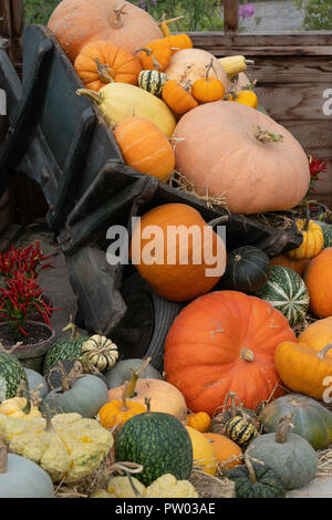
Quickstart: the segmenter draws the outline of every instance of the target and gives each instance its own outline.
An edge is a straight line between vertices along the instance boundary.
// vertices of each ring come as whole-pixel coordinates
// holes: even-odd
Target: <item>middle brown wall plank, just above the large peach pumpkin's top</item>
[[[261,105],[278,122],[324,119],[332,127],[332,114],[323,112],[326,103],[323,94],[329,89],[331,83],[276,83],[272,87],[260,83],[256,92]]]

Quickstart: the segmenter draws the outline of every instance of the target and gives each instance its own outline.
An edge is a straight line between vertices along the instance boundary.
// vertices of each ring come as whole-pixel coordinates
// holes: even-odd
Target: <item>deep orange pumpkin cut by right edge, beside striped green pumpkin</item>
[[[332,248],[323,249],[309,263],[304,282],[310,311],[319,318],[332,316]]]

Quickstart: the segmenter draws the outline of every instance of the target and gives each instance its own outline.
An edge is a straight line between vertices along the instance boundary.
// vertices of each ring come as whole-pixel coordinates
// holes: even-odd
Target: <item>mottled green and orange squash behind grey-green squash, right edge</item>
[[[293,434],[314,449],[325,449],[332,443],[332,413],[318,401],[301,394],[288,394],[272,401],[259,415],[263,431],[277,431],[281,417],[292,414]]]

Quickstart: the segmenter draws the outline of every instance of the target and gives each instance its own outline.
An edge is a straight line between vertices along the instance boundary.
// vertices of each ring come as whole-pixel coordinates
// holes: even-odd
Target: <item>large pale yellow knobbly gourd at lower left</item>
[[[0,414],[0,439],[11,453],[43,468],[53,482],[73,483],[87,477],[113,447],[113,436],[97,420],[59,414],[32,420]]]

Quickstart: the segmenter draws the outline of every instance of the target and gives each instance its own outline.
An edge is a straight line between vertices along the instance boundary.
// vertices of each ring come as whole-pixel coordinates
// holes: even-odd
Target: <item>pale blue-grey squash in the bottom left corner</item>
[[[0,498],[53,498],[51,477],[40,466],[15,454],[7,455],[7,470],[0,471]]]

